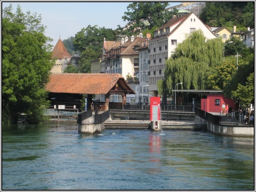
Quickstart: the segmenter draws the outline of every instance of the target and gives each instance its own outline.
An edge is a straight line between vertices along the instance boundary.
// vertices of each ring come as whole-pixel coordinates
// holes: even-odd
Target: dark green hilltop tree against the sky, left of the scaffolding
[[[133,28],[152,29],[153,26],[167,23],[178,12],[177,9],[168,11],[167,6],[168,2],[134,2],[127,6],[122,19],[127,20]]]

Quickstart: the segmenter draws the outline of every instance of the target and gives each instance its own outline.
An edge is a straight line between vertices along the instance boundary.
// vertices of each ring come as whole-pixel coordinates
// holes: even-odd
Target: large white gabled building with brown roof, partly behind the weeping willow
[[[154,32],[154,37],[148,42],[149,52],[149,97],[157,96],[157,82],[163,80],[165,60],[174,53],[178,43],[187,34],[201,29],[206,39],[216,38],[211,28],[205,25],[193,12],[171,19]]]

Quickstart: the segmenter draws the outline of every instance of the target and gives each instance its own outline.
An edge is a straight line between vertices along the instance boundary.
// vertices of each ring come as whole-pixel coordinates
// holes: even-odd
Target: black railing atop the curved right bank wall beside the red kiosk
[[[213,115],[204,110],[195,107],[195,115],[211,122],[215,125],[225,125],[225,126],[254,126],[254,120],[248,121],[244,120],[243,117],[228,117],[226,115]]]

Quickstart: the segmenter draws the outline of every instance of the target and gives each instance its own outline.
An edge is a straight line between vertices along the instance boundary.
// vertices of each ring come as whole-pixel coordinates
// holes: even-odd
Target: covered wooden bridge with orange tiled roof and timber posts
[[[50,97],[65,98],[70,95],[87,94],[87,101],[92,102],[93,94],[105,95],[105,110],[108,110],[109,96],[121,95],[125,103],[126,94],[136,94],[120,74],[105,73],[53,73],[45,86]],[[70,98],[70,97],[69,97]]]

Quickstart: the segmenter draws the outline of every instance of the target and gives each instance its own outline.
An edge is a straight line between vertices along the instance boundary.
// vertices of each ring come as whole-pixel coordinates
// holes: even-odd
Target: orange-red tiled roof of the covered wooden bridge
[[[117,82],[135,94],[123,76],[105,73],[53,73],[45,89],[52,93],[107,94]]]

